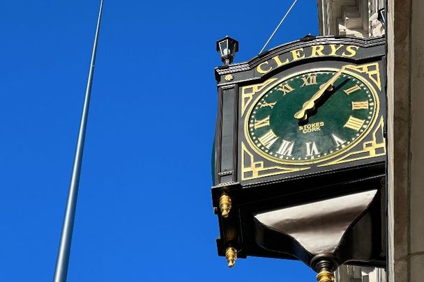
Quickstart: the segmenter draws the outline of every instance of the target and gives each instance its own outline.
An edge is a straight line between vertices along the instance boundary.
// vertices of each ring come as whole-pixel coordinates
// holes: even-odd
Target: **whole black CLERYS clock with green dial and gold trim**
[[[230,266],[235,256],[385,265],[385,42],[307,36],[215,69],[212,197]],[[302,244],[324,233],[343,234],[335,249]]]

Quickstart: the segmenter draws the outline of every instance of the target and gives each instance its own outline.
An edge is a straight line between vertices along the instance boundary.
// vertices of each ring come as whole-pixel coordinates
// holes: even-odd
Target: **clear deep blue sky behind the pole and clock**
[[[52,281],[100,1],[0,2],[0,281]],[[247,61],[292,1],[105,0],[68,281],[314,281],[218,257],[215,40]],[[317,34],[299,0],[269,48]]]

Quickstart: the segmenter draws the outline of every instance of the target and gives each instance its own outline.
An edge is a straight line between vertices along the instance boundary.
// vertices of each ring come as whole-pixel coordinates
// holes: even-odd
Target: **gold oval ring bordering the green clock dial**
[[[353,149],[356,147],[356,145],[358,145],[358,143],[360,143],[361,141],[363,141],[363,139],[368,136],[368,134],[370,133],[370,131],[372,130],[372,128],[374,128],[375,123],[377,122],[377,119],[379,117],[379,113],[380,113],[380,102],[379,102],[379,95],[377,94],[377,91],[375,90],[374,86],[372,86],[372,84],[370,83],[370,81],[368,81],[368,79],[365,79],[365,77],[358,75],[358,73],[352,72],[351,70],[344,70],[343,73],[350,75],[351,77],[354,77],[356,79],[358,79],[359,81],[361,81],[363,84],[365,84],[365,86],[367,86],[367,88],[370,90],[370,93],[372,93],[372,96],[374,97],[374,113],[372,116],[372,120],[370,121],[370,123],[368,124],[368,127],[366,128],[366,130],[364,130],[362,132],[362,134],[360,136],[358,136],[358,138],[356,138],[353,142],[351,142],[348,146],[345,146],[345,148],[341,148],[338,151],[335,151],[331,154],[328,154],[326,156],[323,157],[319,157],[319,158],[314,158],[314,159],[302,159],[302,160],[292,160],[292,159],[280,159],[278,157],[273,157],[271,155],[266,154],[266,152],[263,152],[262,150],[260,150],[259,148],[257,148],[257,146],[255,145],[255,142],[252,141],[251,136],[249,134],[248,131],[248,125],[249,125],[249,119],[250,119],[250,114],[252,113],[252,110],[255,109],[255,107],[257,106],[257,103],[262,99],[262,97],[264,95],[266,95],[266,93],[268,93],[268,91],[270,91],[272,88],[274,88],[275,86],[277,86],[278,84],[280,84],[282,81],[286,81],[288,79],[291,79],[293,77],[296,77],[298,75],[305,75],[308,73],[312,73],[312,72],[338,72],[338,70],[340,70],[340,68],[312,68],[309,70],[303,70],[303,71],[299,71],[299,72],[294,72],[290,75],[287,75],[285,77],[282,77],[281,79],[278,79],[276,81],[273,81],[272,84],[270,84],[269,86],[267,86],[266,88],[264,88],[261,93],[255,98],[255,100],[253,100],[250,103],[250,106],[248,108],[248,110],[245,113],[245,120],[244,120],[244,125],[243,125],[243,132],[245,135],[245,140],[248,142],[250,148],[256,152],[258,155],[260,155],[261,157],[264,157],[264,159],[267,159],[270,162],[274,162],[274,163],[278,163],[278,164],[285,164],[285,165],[295,165],[295,166],[303,166],[303,165],[311,165],[311,164],[319,164],[321,162],[325,162],[328,161],[330,159],[334,159],[335,157],[338,157],[340,155],[344,155],[345,153],[347,153],[349,150]],[[270,77],[271,79],[272,77]]]

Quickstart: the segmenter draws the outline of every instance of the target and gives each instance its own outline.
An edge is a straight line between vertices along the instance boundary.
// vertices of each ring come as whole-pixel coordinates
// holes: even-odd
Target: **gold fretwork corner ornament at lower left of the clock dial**
[[[247,156],[247,157],[246,157]],[[246,162],[248,164],[246,164]],[[283,173],[292,173],[295,171],[305,171],[310,167],[290,168],[285,166],[265,167],[264,162],[255,162],[255,157],[241,142],[241,180],[251,180],[255,178],[264,178],[266,176],[278,175]]]

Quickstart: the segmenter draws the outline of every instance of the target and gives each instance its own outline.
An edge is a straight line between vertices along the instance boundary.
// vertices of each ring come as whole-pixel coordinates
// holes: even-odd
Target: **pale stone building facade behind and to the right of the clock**
[[[339,282],[421,282],[424,276],[423,0],[317,0],[320,35],[386,34],[388,273],[342,266]],[[386,29],[379,10],[386,8]],[[374,275],[375,274],[375,275]]]

